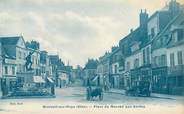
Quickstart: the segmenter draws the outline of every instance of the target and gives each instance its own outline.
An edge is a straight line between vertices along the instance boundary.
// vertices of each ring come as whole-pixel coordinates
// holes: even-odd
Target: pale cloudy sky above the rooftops
[[[22,35],[70,65],[98,58],[170,0],[0,0],[0,36]],[[184,3],[184,0],[177,0]]]

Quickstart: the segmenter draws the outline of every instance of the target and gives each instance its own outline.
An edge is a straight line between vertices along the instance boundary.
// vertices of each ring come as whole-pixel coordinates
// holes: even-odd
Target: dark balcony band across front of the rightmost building
[[[184,65],[177,65],[177,66],[169,67],[168,75],[169,76],[184,75]]]

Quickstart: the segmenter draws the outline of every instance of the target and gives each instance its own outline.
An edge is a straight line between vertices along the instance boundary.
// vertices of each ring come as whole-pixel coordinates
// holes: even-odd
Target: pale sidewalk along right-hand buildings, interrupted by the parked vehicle
[[[125,95],[125,90],[123,89],[110,89],[106,93],[115,93]],[[161,98],[161,99],[173,99],[173,100],[184,100],[184,96],[178,95],[167,95],[167,94],[159,94],[159,93],[151,93],[152,98]]]

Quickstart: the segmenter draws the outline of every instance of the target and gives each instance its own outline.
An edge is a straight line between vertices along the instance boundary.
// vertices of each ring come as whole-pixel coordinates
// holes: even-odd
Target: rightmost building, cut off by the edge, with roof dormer
[[[167,92],[184,95],[184,12],[179,14],[171,23],[169,28],[171,39],[166,51]]]

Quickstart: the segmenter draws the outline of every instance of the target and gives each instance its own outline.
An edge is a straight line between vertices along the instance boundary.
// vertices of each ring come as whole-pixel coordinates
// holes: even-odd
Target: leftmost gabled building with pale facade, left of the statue
[[[16,84],[16,74],[25,71],[26,46],[22,36],[1,37],[3,57],[3,85],[11,91]]]

